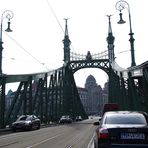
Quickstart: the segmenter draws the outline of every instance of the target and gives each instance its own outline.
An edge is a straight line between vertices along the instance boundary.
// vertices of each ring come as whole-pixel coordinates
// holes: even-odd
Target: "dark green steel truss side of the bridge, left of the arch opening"
[[[19,82],[19,86],[6,110],[5,85],[12,82]],[[35,114],[45,124],[58,122],[65,114],[87,118],[68,67],[49,73],[2,75],[0,90],[0,128],[11,124],[21,114]]]

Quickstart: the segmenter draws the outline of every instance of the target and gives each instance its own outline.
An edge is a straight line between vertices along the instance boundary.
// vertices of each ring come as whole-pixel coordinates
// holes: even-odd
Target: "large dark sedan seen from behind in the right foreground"
[[[142,111],[108,111],[94,122],[94,148],[148,147],[148,115]]]

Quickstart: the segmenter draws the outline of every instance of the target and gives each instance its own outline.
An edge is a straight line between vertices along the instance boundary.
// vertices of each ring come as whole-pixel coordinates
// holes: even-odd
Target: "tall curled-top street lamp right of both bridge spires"
[[[135,63],[135,54],[134,54],[134,41],[135,41],[135,39],[133,38],[134,33],[132,32],[130,6],[129,6],[129,4],[126,1],[120,0],[120,1],[118,1],[116,3],[116,6],[115,7],[120,12],[119,13],[120,20],[119,20],[118,24],[124,24],[125,23],[125,21],[122,18],[122,10],[123,9],[127,9],[128,10],[128,14],[129,14],[129,26],[130,26],[130,33],[129,33],[130,39],[129,39],[129,41],[130,41],[130,46],[131,46],[131,60],[132,60],[131,66],[136,66],[136,63]]]

